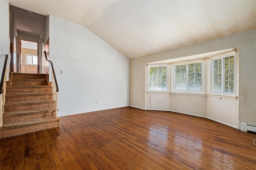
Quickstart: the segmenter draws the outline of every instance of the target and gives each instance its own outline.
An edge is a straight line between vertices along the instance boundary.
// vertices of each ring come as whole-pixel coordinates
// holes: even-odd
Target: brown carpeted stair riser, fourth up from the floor
[[[26,96],[26,97],[5,97],[5,102],[20,102],[20,101],[44,101],[52,99],[52,95],[41,96]]]

